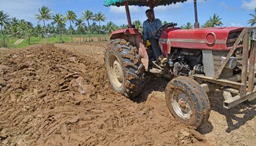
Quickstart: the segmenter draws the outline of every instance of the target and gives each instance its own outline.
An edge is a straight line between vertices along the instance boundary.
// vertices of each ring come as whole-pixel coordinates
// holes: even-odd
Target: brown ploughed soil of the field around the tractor
[[[0,49],[0,145],[254,145],[256,105],[222,108],[210,94],[209,122],[178,122],[165,103],[168,81],[149,77],[135,100],[108,82],[107,42]]]

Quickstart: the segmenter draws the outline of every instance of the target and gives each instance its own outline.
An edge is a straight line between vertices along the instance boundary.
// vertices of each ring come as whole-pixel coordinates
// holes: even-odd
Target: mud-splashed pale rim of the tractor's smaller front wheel
[[[177,90],[175,94],[172,94],[172,99],[171,104],[174,112],[182,119],[190,119],[192,110],[187,94],[183,91]]]

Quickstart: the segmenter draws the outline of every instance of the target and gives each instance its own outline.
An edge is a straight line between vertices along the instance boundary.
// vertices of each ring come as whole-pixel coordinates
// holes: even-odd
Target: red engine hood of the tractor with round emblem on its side
[[[170,47],[230,50],[243,29],[244,27],[173,28],[165,30],[159,41],[167,41]]]

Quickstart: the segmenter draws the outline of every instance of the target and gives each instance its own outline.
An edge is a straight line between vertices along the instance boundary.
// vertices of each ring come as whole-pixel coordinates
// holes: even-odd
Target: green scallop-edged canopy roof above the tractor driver
[[[124,1],[126,0],[104,0],[105,6],[116,5],[122,6],[124,5]],[[187,0],[152,0],[153,5],[157,7],[158,5],[170,5],[176,4],[176,2],[185,2]],[[138,5],[138,6],[149,6],[149,0],[128,0],[129,5]]]

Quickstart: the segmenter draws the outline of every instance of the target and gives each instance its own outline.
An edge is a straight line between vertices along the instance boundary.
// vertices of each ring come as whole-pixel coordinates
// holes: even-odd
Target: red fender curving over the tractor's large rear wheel
[[[146,47],[143,44],[141,34],[138,32],[138,29],[121,29],[111,33],[110,40],[116,38],[123,38],[126,41],[129,41],[132,46],[136,46],[139,49],[139,55],[141,62],[143,63],[145,69],[148,69],[149,57],[146,51]]]

